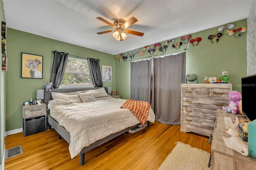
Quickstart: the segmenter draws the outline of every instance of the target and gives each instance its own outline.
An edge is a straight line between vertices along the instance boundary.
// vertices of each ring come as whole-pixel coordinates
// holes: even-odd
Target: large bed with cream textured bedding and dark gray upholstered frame
[[[69,143],[71,158],[79,154],[81,166],[87,151],[141,124],[130,109],[120,108],[127,101],[111,97],[103,87],[44,91],[48,128]],[[144,122],[154,119],[150,107]]]

